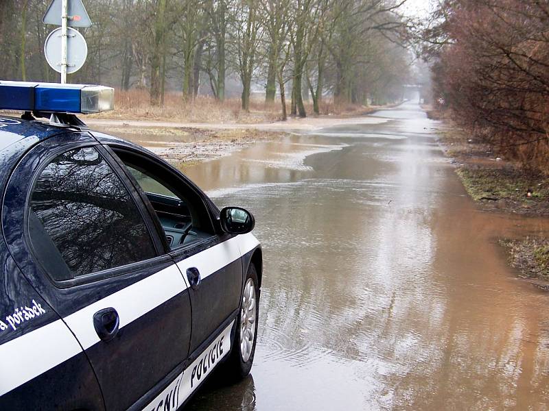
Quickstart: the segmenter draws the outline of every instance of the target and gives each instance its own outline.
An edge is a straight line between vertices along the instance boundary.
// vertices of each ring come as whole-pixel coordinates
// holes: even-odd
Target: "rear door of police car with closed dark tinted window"
[[[89,134],[40,143],[6,197],[14,257],[84,348],[106,409],[149,399],[185,366],[187,284],[132,184]],[[24,216],[23,216],[24,215]]]

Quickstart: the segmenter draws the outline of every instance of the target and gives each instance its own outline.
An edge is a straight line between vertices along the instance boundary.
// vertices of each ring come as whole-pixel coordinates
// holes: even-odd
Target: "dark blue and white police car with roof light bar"
[[[112,105],[0,82],[23,112],[0,116],[0,410],[176,410],[213,369],[252,366],[253,216],[75,116]]]

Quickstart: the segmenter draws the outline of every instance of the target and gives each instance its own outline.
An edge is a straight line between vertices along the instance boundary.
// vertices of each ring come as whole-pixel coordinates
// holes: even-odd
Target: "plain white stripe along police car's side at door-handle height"
[[[80,345],[89,349],[99,343],[100,338],[93,327],[95,312],[103,308],[115,308],[119,314],[119,327],[124,327],[187,289],[186,279],[181,281],[180,270],[184,275],[185,269],[196,267],[204,279],[238,260],[241,253],[244,256],[257,245],[259,242],[253,234],[235,236],[179,262],[179,269],[176,264],[168,266],[63,320],[54,321],[0,345],[0,364],[2,369],[10,371],[10,377],[0,379],[0,396],[81,353]]]

